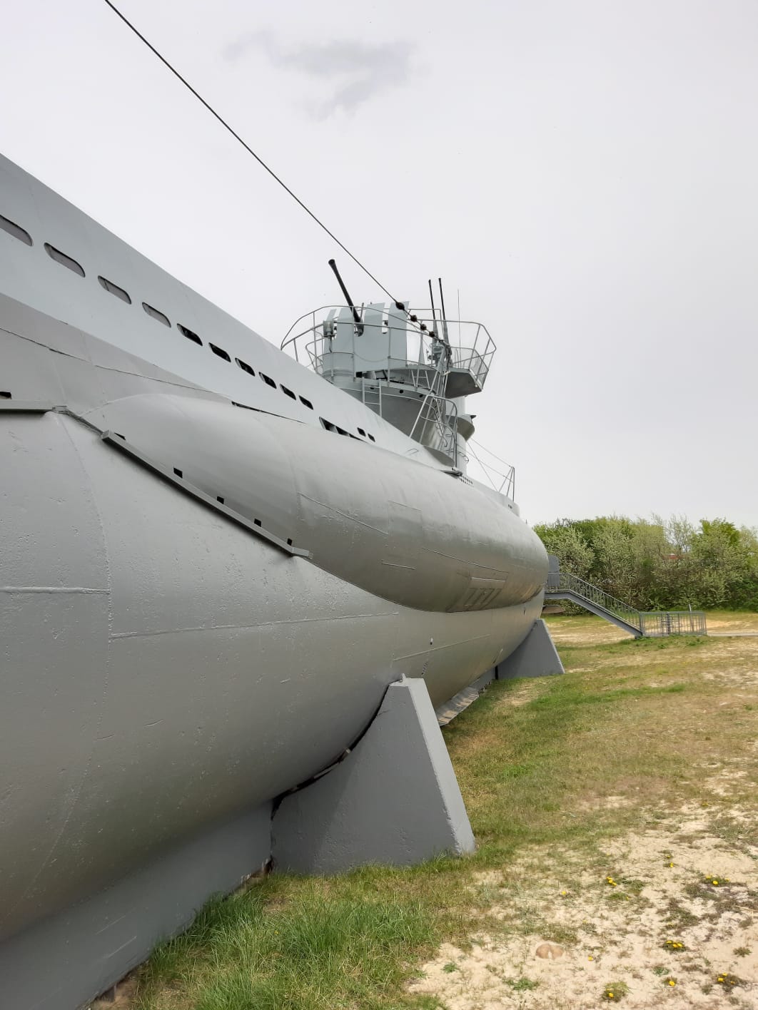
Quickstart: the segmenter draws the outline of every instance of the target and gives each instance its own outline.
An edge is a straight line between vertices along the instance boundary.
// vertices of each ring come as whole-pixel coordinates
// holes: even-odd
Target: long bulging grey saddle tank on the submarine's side
[[[394,452],[229,404],[117,400],[87,419],[118,431],[314,565],[419,610],[511,606],[544,585],[544,551],[473,486]]]

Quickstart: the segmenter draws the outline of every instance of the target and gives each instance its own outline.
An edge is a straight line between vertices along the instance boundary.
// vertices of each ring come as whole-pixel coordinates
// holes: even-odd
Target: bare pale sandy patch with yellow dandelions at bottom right
[[[536,851],[507,873],[483,875],[478,886],[492,905],[481,934],[470,949],[445,944],[411,991],[448,1010],[754,1010],[755,828],[746,823],[727,845],[707,812],[683,808],[609,844],[601,871]]]

